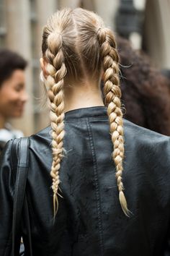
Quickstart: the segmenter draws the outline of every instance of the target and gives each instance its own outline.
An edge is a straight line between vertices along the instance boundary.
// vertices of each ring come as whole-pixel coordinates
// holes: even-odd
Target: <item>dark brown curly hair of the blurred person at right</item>
[[[117,37],[117,48],[125,118],[170,135],[170,80],[153,67],[146,54],[133,50],[128,40]]]

